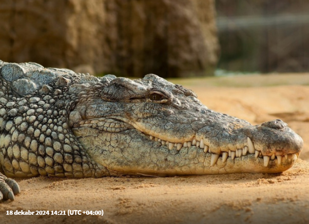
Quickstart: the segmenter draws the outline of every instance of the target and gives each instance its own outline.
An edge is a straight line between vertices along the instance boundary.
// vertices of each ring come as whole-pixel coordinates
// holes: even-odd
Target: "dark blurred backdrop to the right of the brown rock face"
[[[217,0],[219,68],[234,71],[309,70],[309,2]]]

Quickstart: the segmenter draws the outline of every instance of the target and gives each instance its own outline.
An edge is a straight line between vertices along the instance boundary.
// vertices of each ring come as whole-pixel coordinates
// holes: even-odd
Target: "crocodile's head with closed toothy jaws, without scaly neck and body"
[[[252,126],[208,109],[194,92],[157,75],[113,77],[92,91],[79,94],[70,126],[91,157],[111,171],[278,173],[294,164],[303,145],[281,120]]]

